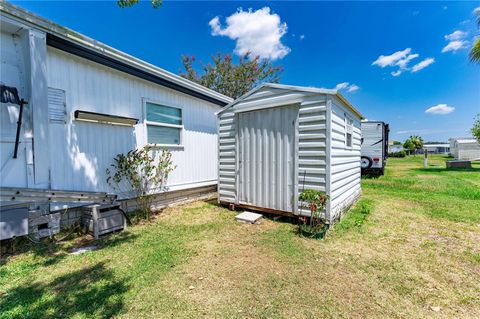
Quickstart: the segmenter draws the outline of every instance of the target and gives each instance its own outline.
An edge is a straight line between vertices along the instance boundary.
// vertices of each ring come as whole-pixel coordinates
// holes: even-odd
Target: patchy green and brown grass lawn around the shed
[[[480,164],[390,159],[323,241],[197,202],[2,260],[0,318],[480,318]]]

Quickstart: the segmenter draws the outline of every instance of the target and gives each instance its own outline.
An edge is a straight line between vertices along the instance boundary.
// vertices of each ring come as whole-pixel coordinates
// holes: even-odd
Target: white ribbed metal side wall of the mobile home
[[[177,168],[170,189],[201,186],[217,180],[217,118],[220,108],[209,102],[112,70],[48,47],[48,86],[65,91],[67,121],[54,134],[50,147],[52,187],[112,191],[105,169],[120,152],[146,144],[143,99],[183,110],[183,146],[171,148]],[[84,111],[133,117],[135,127],[86,123],[73,119]]]

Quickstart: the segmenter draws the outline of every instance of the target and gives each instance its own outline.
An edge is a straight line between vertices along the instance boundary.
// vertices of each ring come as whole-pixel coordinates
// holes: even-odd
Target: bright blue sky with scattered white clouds
[[[342,87],[397,140],[468,136],[480,113],[480,64],[468,60],[480,1],[13,3],[175,73],[182,54],[256,51],[283,66],[281,83]]]

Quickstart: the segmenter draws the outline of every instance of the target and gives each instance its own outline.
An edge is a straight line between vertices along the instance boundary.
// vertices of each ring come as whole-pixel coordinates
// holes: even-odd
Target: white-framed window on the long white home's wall
[[[146,123],[149,144],[181,145],[182,109],[147,102]]]

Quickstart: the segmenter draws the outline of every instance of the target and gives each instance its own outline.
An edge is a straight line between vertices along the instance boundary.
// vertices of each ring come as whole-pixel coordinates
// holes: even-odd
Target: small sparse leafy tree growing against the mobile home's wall
[[[148,219],[154,194],[164,190],[168,176],[176,168],[169,150],[162,149],[158,156],[152,154],[154,152],[146,146],[127,154],[118,154],[111,164],[112,169],[106,170],[107,183],[124,193],[133,193],[137,205]]]

